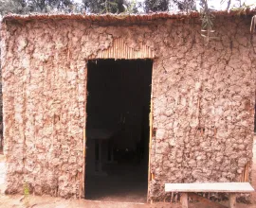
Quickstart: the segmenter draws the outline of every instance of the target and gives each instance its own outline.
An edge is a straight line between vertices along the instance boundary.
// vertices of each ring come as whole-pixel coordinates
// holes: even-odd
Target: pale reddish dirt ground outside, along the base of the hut
[[[256,136],[254,137],[253,146],[253,165],[252,165],[252,186],[256,187]],[[51,198],[48,196],[32,196],[29,195],[24,199],[22,195],[6,196],[5,189],[5,157],[0,154],[0,208],[179,208],[179,203],[137,203],[137,202],[122,202],[119,199],[88,200],[88,199],[61,199]],[[129,197],[128,197],[129,198]],[[252,204],[238,203],[237,208],[256,208],[256,193],[251,195]],[[228,201],[223,202],[228,205]],[[210,208],[203,202],[190,203],[191,208]],[[215,206],[213,205],[212,208]]]

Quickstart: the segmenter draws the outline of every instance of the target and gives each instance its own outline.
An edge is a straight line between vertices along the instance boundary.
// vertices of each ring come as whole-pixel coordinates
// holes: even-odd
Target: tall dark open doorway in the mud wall
[[[88,62],[85,199],[146,202],[152,66]]]

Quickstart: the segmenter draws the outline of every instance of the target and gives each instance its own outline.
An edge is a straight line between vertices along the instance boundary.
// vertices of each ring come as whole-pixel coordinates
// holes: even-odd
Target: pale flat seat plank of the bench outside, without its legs
[[[254,192],[249,182],[165,183],[165,192]]]

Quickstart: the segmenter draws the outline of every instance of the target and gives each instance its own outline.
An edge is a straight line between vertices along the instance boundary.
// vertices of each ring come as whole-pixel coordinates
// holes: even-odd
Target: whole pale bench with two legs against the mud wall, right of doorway
[[[191,192],[229,193],[229,207],[234,208],[237,193],[254,192],[254,189],[249,182],[165,183],[165,192],[181,192],[182,208],[189,207],[188,193]]]

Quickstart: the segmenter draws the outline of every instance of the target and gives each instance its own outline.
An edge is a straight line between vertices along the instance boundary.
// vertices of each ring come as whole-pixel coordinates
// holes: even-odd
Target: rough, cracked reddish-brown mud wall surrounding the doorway
[[[255,38],[249,17],[108,24],[4,19],[2,77],[7,193],[78,197],[86,60],[121,38],[155,50],[150,199],[165,182],[239,182],[252,161]]]

